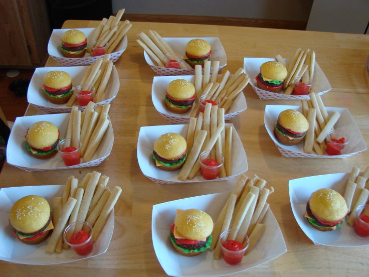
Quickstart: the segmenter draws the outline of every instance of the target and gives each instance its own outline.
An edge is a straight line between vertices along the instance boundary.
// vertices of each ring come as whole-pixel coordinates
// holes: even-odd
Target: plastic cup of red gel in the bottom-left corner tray
[[[86,221],[76,221],[68,225],[64,230],[63,238],[80,256],[86,256],[92,252],[94,246],[92,226]]]

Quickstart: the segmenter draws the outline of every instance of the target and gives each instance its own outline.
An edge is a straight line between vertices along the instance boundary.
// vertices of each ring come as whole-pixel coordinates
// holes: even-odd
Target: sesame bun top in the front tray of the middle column
[[[213,219],[206,212],[198,209],[183,210],[174,219],[177,231],[192,240],[201,240],[213,231]]]

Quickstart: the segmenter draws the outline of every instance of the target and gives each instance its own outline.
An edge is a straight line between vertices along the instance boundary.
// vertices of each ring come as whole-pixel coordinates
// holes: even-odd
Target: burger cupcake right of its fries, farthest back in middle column
[[[194,39],[187,43],[186,56],[183,59],[193,68],[197,64],[204,67],[204,62],[209,60],[211,54],[212,47],[206,40]]]

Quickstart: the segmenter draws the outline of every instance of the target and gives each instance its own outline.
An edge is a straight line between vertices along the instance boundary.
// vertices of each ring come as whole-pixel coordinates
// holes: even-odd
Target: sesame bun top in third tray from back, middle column
[[[154,151],[166,160],[179,158],[186,150],[187,143],[185,138],[177,133],[164,133],[154,142]]]

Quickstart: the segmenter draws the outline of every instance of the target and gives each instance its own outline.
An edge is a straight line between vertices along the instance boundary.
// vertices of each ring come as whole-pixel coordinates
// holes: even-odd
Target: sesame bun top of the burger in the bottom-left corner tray
[[[32,234],[45,227],[49,221],[50,212],[50,205],[44,197],[29,195],[14,203],[9,219],[15,229]]]

